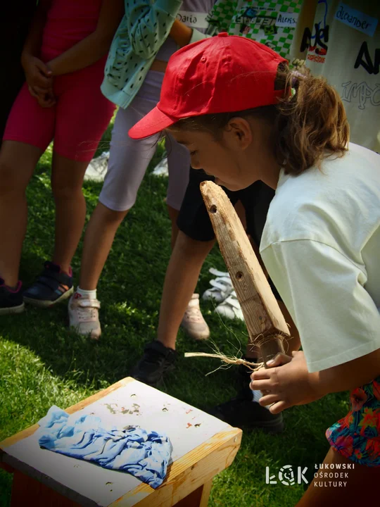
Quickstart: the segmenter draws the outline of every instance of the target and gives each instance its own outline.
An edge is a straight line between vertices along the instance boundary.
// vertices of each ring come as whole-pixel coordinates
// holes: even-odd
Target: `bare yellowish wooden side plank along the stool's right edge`
[[[129,492],[109,507],[171,507],[203,484],[211,482],[219,472],[232,464],[241,444],[242,432],[232,428],[221,432],[175,461],[167,470],[162,486],[152,489],[147,484]],[[211,486],[208,484],[208,487]],[[206,497],[205,489],[205,496]],[[206,506],[205,500],[200,505]],[[194,506],[195,507],[195,506]]]

